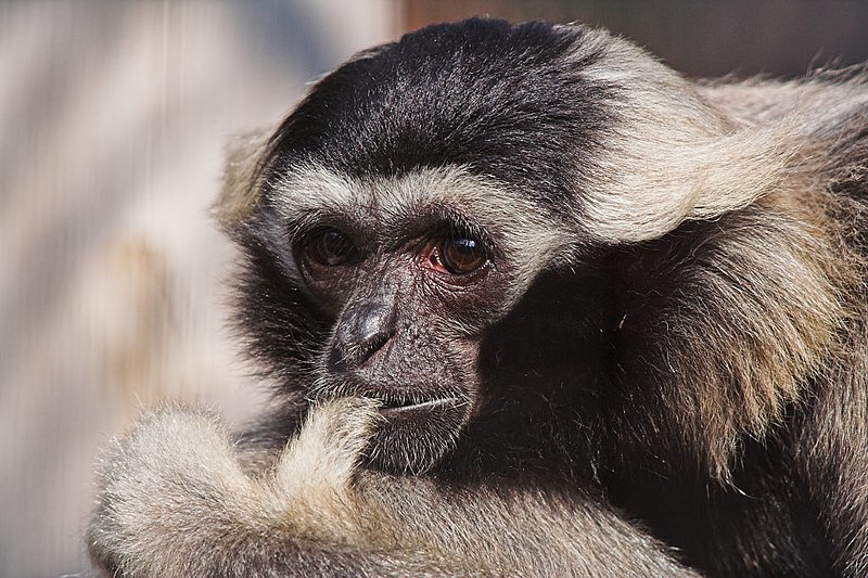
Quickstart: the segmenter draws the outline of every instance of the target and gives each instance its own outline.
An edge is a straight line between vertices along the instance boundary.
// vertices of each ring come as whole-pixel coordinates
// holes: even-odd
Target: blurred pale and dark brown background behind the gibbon
[[[261,407],[208,215],[227,138],[471,15],[605,26],[692,76],[868,60],[861,1],[0,1],[0,577],[90,575],[98,449],[141,407]]]

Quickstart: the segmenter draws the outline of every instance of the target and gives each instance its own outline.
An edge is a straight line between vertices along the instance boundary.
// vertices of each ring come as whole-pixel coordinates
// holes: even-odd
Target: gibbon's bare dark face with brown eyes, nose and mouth
[[[310,394],[379,400],[371,461],[419,472],[452,447],[473,411],[478,304],[502,275],[495,248],[450,223],[388,248],[373,233],[314,226],[295,235],[310,296],[333,319]]]

